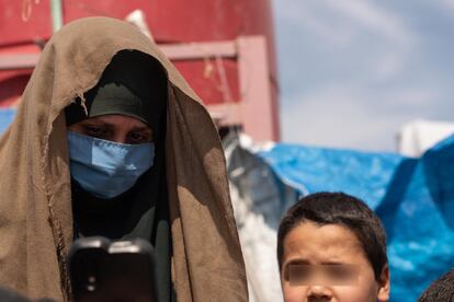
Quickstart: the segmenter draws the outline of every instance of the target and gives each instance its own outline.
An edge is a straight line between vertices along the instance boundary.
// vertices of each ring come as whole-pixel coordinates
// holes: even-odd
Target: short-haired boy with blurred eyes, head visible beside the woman
[[[318,193],[294,205],[279,228],[277,260],[285,302],[389,299],[385,231],[352,196]]]

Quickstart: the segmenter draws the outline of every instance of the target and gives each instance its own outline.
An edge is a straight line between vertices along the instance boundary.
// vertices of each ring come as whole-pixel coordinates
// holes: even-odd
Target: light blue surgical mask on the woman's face
[[[152,166],[154,143],[126,144],[68,131],[71,177],[99,198],[113,198],[134,186]]]

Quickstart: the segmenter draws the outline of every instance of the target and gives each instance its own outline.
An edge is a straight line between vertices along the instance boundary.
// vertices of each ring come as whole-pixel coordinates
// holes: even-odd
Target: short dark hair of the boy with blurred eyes
[[[282,269],[285,236],[300,223],[339,224],[353,232],[374,269],[375,280],[388,263],[386,234],[379,218],[364,201],[343,193],[316,193],[303,197],[288,209],[277,232],[277,262]]]

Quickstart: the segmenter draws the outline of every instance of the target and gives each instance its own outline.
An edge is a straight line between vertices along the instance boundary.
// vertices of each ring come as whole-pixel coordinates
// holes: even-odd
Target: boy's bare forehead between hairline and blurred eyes
[[[283,263],[298,259],[308,264],[354,264],[357,257],[366,260],[355,234],[339,224],[300,223],[285,236],[283,247]]]

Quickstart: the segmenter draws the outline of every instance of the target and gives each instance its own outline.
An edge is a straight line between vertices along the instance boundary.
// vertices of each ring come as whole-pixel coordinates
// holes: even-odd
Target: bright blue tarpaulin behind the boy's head
[[[421,159],[284,143],[259,155],[302,194],[344,191],[375,210],[387,232],[390,301],[417,301],[454,267],[454,137]]]

